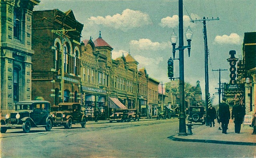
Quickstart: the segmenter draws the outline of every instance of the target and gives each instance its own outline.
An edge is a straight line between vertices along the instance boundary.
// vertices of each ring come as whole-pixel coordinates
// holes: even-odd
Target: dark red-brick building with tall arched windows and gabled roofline
[[[34,12],[32,99],[48,100],[51,105],[80,102],[80,34],[83,26],[72,10]]]

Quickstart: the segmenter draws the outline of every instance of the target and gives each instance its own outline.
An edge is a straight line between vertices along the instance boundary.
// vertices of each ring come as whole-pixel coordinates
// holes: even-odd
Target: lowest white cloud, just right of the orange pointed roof
[[[143,68],[145,66],[155,66],[156,64],[159,64],[160,62],[163,61],[162,57],[157,57],[157,58],[146,58],[144,56],[136,55],[134,56],[134,59],[139,62],[140,64],[138,65],[139,68]]]

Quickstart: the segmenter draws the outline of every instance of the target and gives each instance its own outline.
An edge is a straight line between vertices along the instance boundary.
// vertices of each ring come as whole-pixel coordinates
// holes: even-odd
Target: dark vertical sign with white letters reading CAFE
[[[230,50],[229,54],[230,54],[230,58],[227,59],[230,65],[229,84],[236,84],[236,62],[238,61],[238,58],[235,57],[235,54],[236,54],[235,50]]]

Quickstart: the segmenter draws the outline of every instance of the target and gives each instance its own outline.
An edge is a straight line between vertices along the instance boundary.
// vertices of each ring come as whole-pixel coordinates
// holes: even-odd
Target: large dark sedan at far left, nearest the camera
[[[50,116],[50,102],[42,100],[30,100],[16,102],[15,112],[1,117],[1,133],[10,128],[22,128],[23,132],[30,132],[31,127],[45,127],[46,131],[52,128]]]

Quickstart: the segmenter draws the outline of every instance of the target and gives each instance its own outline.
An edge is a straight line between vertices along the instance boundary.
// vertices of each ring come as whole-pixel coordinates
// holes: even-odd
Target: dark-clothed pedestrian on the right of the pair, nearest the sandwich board
[[[244,120],[244,115],[245,115],[245,108],[236,103],[233,108],[232,108],[232,113],[231,113],[231,119],[234,119],[235,123],[235,133],[240,133],[241,130],[241,124],[243,123]]]

